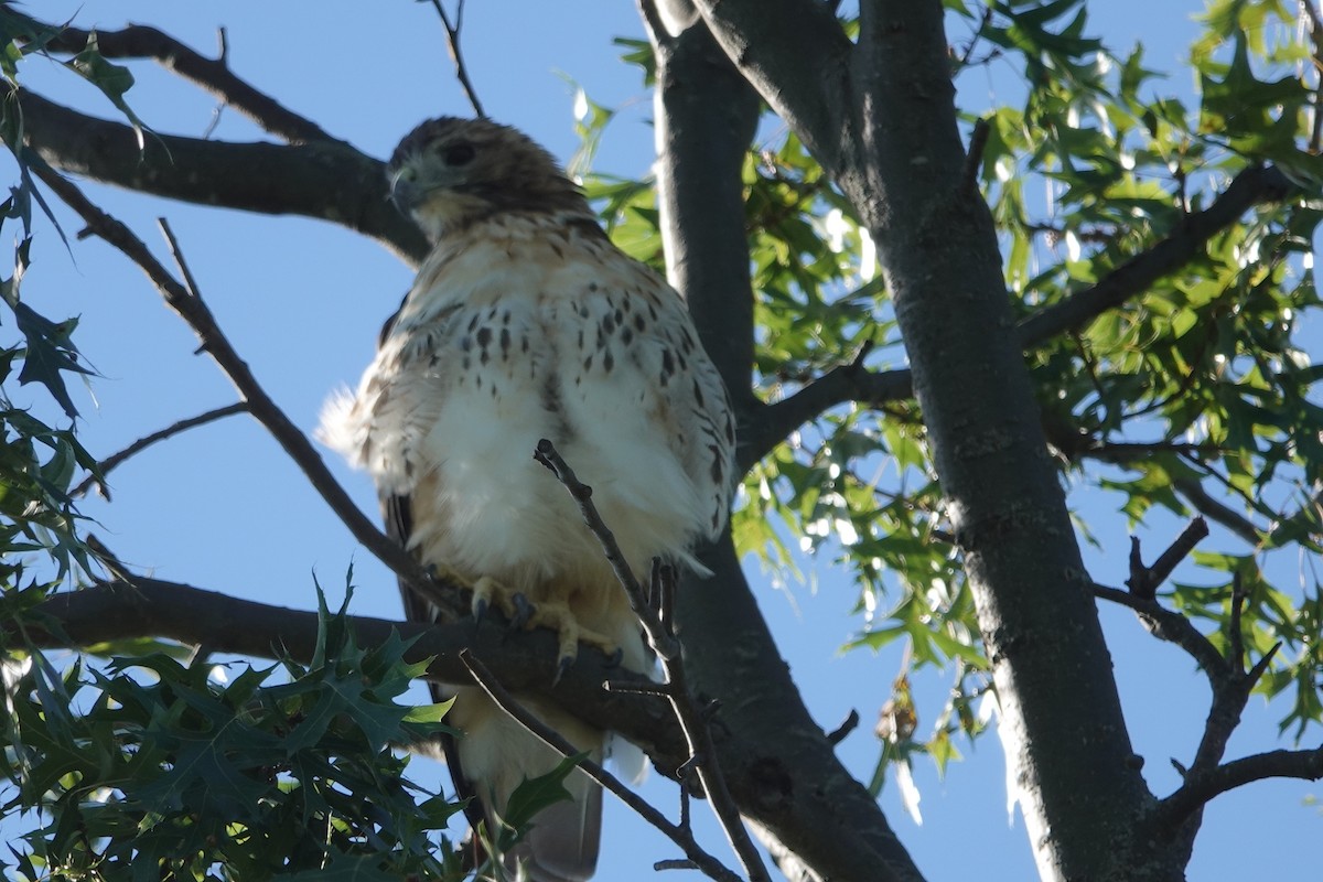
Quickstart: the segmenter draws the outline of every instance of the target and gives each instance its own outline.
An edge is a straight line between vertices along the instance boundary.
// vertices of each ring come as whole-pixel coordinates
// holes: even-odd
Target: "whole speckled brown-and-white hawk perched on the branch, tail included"
[[[476,583],[475,611],[499,583],[558,629],[562,659],[591,639],[648,670],[623,588],[533,450],[550,439],[593,488],[635,573],[654,557],[703,571],[691,549],[725,525],[734,419],[683,300],[611,245],[556,160],[513,128],[425,122],[388,175],[433,250],[357,393],[328,402],[323,440],[370,472],[407,550]],[[409,619],[433,620],[406,587],[404,600]],[[560,756],[476,688],[446,694],[462,731],[446,751],[451,775],[478,797],[470,820],[491,826],[515,787]],[[521,701],[581,750],[607,754],[607,733]],[[642,754],[615,747],[638,775]],[[573,800],[544,809],[505,858],[534,881],[586,879],[597,863],[601,789],[581,771],[566,787]]]

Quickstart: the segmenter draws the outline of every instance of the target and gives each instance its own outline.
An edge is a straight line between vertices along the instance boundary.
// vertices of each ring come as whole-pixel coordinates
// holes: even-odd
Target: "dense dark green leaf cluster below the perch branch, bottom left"
[[[439,838],[462,804],[393,750],[446,731],[446,705],[400,703],[426,665],[405,649],[357,647],[321,603],[316,656],[284,682],[164,653],[60,674],[33,652],[8,692],[0,811],[38,819],[17,878],[462,878]]]

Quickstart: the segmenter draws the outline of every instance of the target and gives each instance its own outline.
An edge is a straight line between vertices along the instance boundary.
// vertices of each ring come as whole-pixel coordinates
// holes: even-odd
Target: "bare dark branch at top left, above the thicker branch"
[[[65,28],[46,44],[46,50],[74,54],[86,48],[90,36],[79,28]],[[128,25],[123,30],[97,30],[97,48],[106,58],[151,58],[291,144],[336,140],[312,120],[235,77],[225,62],[224,41],[221,57],[206,58],[156,28]]]

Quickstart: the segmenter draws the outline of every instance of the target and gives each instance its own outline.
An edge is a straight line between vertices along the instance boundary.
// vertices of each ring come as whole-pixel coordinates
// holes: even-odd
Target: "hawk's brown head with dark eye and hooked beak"
[[[499,212],[589,214],[552,155],[488,119],[439,116],[409,132],[386,167],[390,198],[433,242]]]

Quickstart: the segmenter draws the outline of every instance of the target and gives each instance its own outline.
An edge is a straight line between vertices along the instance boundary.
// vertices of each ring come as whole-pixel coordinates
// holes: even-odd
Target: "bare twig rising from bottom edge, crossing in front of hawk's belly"
[[[762,856],[758,854],[753,840],[749,838],[749,832],[740,820],[740,809],[736,807],[734,799],[726,787],[725,776],[721,774],[721,767],[717,762],[717,748],[712,741],[712,729],[708,726],[704,709],[699,707],[693,694],[689,692],[679,640],[662,623],[658,612],[648,607],[647,594],[638,579],[634,578],[634,573],[630,570],[619,545],[617,545],[615,537],[602,521],[602,516],[593,504],[593,488],[578,480],[574,469],[556,451],[556,446],[545,438],[537,442],[534,458],[552,469],[557,480],[560,480],[578,504],[583,522],[587,524],[589,530],[602,545],[606,559],[611,563],[611,569],[624,587],[630,606],[643,624],[643,629],[648,635],[648,643],[662,662],[665,684],[669,688],[667,697],[671,700],[671,709],[680,722],[681,731],[684,731],[699,782],[708,796],[712,812],[717,816],[717,822],[730,841],[730,848],[740,856],[745,874],[750,882],[770,882],[771,877],[767,875],[767,869],[762,863]],[[659,578],[664,579],[660,571]]]

